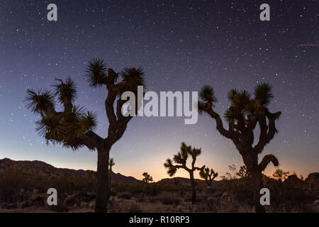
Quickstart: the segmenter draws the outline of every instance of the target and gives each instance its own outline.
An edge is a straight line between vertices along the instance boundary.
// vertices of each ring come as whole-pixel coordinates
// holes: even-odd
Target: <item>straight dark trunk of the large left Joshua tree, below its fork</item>
[[[107,213],[108,209],[108,157],[110,149],[98,149],[98,166],[96,172],[96,213]]]

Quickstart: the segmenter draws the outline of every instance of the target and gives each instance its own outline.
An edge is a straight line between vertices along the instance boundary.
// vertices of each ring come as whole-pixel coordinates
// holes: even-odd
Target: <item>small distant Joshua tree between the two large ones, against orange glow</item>
[[[178,169],[184,169],[189,172],[189,179],[191,181],[191,203],[196,203],[196,183],[194,179],[194,171],[195,170],[203,170],[203,167],[195,167],[196,157],[201,155],[201,149],[191,148],[191,146],[186,145],[185,143],[181,143],[181,150],[177,155],[174,155],[173,160],[169,158],[164,163],[164,167],[167,168],[167,174],[169,177],[173,177]],[[191,156],[191,168],[186,166],[186,161],[188,157]],[[173,161],[177,163],[177,165],[173,164]]]

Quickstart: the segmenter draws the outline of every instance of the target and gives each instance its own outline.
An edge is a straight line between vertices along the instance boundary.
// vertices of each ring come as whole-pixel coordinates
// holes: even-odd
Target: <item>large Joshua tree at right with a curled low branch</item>
[[[252,176],[255,209],[257,212],[264,212],[264,206],[259,203],[259,191],[263,187],[262,171],[265,170],[269,162],[272,162],[275,166],[279,165],[274,155],[266,155],[258,163],[258,155],[262,153],[264,147],[274,138],[277,132],[275,121],[281,115],[281,112],[273,114],[267,108],[274,97],[272,86],[259,84],[254,90],[253,98],[247,91],[231,90],[228,93],[231,105],[224,115],[225,120],[228,121],[228,129],[224,128],[223,120],[214,111],[214,103],[216,103],[217,99],[213,88],[204,86],[201,89],[200,97],[202,101],[198,102],[198,112],[200,114],[206,113],[215,119],[218,132],[235,144],[240,155],[242,155],[247,170]],[[257,124],[259,125],[260,133],[259,140],[254,145],[254,129]]]

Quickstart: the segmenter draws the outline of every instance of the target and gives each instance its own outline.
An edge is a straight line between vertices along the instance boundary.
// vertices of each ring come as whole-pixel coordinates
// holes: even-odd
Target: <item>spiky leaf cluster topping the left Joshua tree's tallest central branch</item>
[[[106,63],[99,58],[89,62],[86,67],[86,79],[89,80],[91,87],[98,87],[103,84],[103,80],[106,79],[106,68]]]

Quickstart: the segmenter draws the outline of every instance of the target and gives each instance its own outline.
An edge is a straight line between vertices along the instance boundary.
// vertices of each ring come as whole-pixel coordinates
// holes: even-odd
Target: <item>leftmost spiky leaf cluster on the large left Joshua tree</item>
[[[33,90],[27,90],[27,96],[25,98],[26,107],[33,111],[35,114],[45,114],[45,108],[47,106],[55,105],[55,98],[50,91],[45,89],[40,89],[38,92],[33,92]]]

